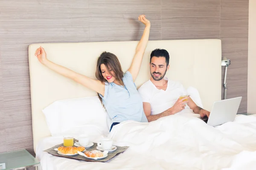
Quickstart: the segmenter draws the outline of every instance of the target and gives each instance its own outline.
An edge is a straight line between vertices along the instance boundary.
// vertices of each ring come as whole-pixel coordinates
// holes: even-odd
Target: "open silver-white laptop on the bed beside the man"
[[[242,97],[235,97],[213,102],[212,111],[209,118],[207,116],[201,118],[207,125],[217,126],[226,122],[233,122],[241,103]]]

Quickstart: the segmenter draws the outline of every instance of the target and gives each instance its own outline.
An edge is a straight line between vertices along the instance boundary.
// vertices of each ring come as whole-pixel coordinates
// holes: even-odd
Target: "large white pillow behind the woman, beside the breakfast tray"
[[[65,135],[83,130],[81,133],[108,133],[110,117],[98,96],[64,99],[53,102],[43,113],[52,136]]]

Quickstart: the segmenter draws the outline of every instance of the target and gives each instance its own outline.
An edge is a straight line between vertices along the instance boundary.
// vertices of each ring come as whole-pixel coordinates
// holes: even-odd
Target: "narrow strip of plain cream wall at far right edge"
[[[256,113],[256,0],[249,0],[247,113]]]

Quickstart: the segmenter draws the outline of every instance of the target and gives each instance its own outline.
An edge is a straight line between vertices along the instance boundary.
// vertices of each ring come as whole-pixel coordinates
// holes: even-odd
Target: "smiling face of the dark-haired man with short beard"
[[[165,57],[152,57],[150,63],[150,74],[155,81],[163,79],[166,71],[169,69],[169,65],[166,65]]]

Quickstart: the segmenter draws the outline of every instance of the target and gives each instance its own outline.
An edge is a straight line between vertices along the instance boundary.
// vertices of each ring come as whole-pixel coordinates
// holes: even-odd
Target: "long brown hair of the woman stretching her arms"
[[[116,81],[119,82],[119,84],[124,85],[124,83],[122,82],[122,77],[124,72],[122,71],[121,64],[115,54],[105,51],[98,58],[95,76],[99,81],[105,84],[105,82],[108,82],[108,81],[102,76],[102,71],[100,69],[100,65],[102,64],[106,66],[109,74],[111,74],[111,72],[109,71],[109,68],[111,68],[115,74],[115,75],[111,74],[111,76],[115,77]],[[102,102],[102,98],[99,96],[99,94],[98,94],[98,97]],[[103,102],[102,102],[102,105],[104,106]]]

